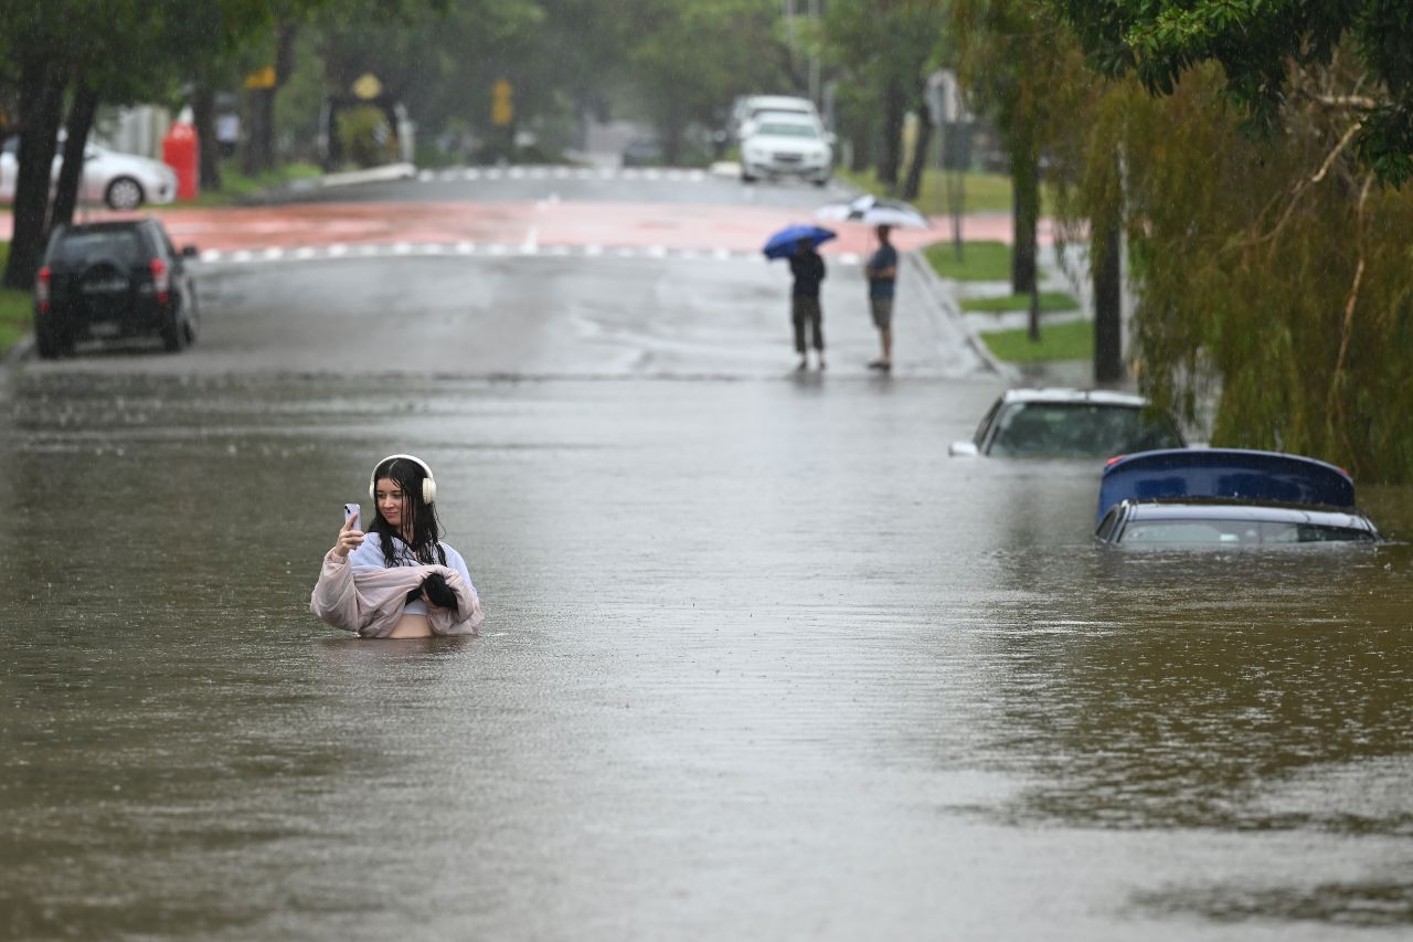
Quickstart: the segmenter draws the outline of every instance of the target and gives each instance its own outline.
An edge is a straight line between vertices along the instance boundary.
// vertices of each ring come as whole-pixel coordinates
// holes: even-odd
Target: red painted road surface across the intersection
[[[759,250],[781,226],[817,222],[808,212],[771,208],[729,208],[601,202],[349,202],[284,207],[157,211],[172,240],[201,249],[294,249],[329,245],[448,245],[456,242],[545,246],[623,246],[663,249]],[[88,219],[120,218],[97,211]],[[852,222],[825,223],[839,238],[825,253],[865,253],[873,248],[872,228]],[[0,216],[0,238],[8,238],[10,216]],[[1010,215],[964,219],[968,240],[1010,242]],[[951,238],[951,222],[933,218],[933,229],[896,229],[893,243],[914,249]],[[1048,242],[1048,232],[1041,231]]]

